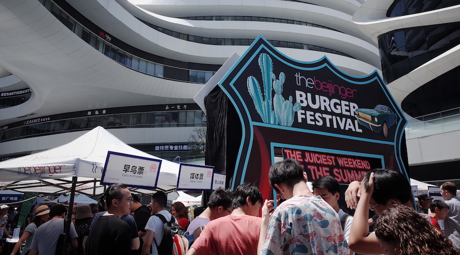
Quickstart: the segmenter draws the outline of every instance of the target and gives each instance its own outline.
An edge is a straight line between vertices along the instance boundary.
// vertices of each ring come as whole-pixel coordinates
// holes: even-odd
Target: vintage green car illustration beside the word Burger
[[[374,109],[356,109],[356,119],[359,123],[374,132],[382,132],[383,137],[388,136],[388,129],[398,119],[396,113],[387,106],[377,105]]]

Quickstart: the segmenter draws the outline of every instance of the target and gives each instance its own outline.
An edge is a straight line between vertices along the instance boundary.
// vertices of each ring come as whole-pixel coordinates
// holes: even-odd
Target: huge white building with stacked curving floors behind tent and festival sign
[[[264,36],[303,61],[379,69],[352,21],[362,0],[5,0],[0,3],[0,159],[97,126],[159,157],[187,156],[205,115],[193,96]],[[9,75],[11,74],[11,75]]]

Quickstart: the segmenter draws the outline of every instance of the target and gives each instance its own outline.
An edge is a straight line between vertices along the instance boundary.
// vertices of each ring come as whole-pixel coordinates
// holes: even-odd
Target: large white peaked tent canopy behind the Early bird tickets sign
[[[162,160],[157,189],[176,188],[179,165],[135,149],[98,126],[70,143],[36,154],[0,162],[1,189],[19,192],[64,193],[78,176],[76,191],[88,195],[104,192],[99,184],[108,151]],[[132,189],[141,194],[150,190]]]

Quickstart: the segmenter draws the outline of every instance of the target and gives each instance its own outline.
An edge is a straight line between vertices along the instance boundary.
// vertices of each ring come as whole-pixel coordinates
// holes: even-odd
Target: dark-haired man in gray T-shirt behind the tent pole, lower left
[[[67,213],[67,208],[63,205],[55,205],[50,209],[50,219],[46,223],[40,225],[34,234],[34,239],[30,246],[30,255],[54,255],[56,245],[60,234],[64,234],[64,219]],[[74,223],[71,222],[69,240],[73,250],[78,247],[77,231],[75,231]]]

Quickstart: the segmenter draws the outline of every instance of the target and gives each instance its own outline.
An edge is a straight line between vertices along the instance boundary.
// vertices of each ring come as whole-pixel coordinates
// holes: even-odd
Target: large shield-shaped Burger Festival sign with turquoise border
[[[206,164],[226,173],[232,189],[256,183],[264,197],[272,196],[268,169],[283,148],[300,150],[304,158],[309,151],[369,162],[352,168],[358,177],[383,167],[408,179],[406,119],[377,71],[357,77],[326,56],[294,60],[259,36],[208,93],[205,106],[212,134]],[[335,175],[323,163],[315,166]]]

